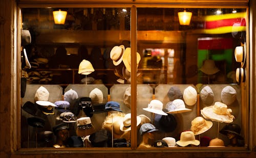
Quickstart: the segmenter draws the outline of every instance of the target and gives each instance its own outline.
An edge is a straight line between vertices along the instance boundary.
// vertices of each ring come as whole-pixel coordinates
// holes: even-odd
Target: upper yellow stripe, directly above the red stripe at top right
[[[223,20],[223,19],[245,18],[245,17],[246,17],[246,12],[221,14],[221,15],[209,15],[209,16],[205,16],[205,21],[216,21],[216,20]]]

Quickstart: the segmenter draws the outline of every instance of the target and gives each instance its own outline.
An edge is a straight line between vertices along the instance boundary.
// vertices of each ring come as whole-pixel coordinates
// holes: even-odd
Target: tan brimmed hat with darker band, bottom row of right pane
[[[180,135],[180,140],[176,142],[179,146],[187,146],[189,144],[199,145],[200,141],[196,140],[193,131],[183,131]]]

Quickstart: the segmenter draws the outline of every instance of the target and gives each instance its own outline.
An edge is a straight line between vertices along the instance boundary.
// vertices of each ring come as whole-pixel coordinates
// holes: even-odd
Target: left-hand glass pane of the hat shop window
[[[22,148],[130,147],[130,17],[130,8],[22,8]]]

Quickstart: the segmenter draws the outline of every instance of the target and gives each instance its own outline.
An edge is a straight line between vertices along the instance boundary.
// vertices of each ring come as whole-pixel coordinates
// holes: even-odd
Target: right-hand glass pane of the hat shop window
[[[141,125],[138,146],[161,147],[164,138],[177,147],[205,147],[215,138],[225,146],[244,146],[239,84],[245,78],[246,9],[138,8],[137,13],[137,115],[151,123]],[[235,144],[227,124],[238,127]],[[193,144],[182,140],[182,135],[193,139],[187,130],[193,130]]]

